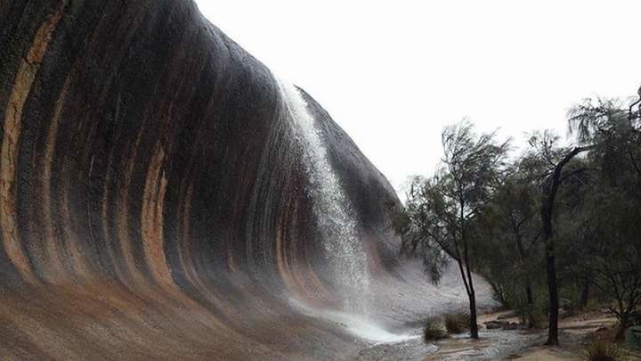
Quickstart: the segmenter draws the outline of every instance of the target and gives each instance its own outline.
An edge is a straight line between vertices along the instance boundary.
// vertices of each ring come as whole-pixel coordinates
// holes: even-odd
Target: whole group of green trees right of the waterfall
[[[641,97],[641,89],[639,90]],[[478,338],[472,274],[528,327],[548,322],[558,344],[559,304],[605,304],[617,338],[641,306],[640,101],[586,100],[568,112],[572,145],[534,131],[512,154],[496,132],[476,134],[465,119],[442,131],[434,176],[413,178],[394,208],[402,252],[423,259],[437,283],[455,262]],[[391,207],[394,207],[391,205]]]

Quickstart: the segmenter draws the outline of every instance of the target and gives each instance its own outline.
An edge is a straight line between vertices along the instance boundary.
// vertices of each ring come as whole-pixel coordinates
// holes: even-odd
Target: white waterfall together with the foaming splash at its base
[[[328,158],[328,151],[307,103],[295,86],[279,81],[280,94],[288,121],[302,145],[304,168],[309,176],[307,192],[312,210],[321,230],[322,245],[329,266],[343,295],[343,310],[310,308],[290,299],[304,314],[328,320],[364,340],[394,343],[418,338],[415,334],[395,334],[373,322],[369,316],[369,269],[367,253],[356,232],[353,209]]]

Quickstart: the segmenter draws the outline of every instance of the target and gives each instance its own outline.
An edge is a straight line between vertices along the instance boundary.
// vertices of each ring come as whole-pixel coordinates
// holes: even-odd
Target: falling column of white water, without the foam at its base
[[[304,168],[309,176],[307,192],[320,228],[322,245],[338,287],[343,308],[366,313],[369,304],[367,255],[356,232],[353,209],[328,158],[321,132],[296,86],[279,81],[283,105],[296,141],[301,144]]]

